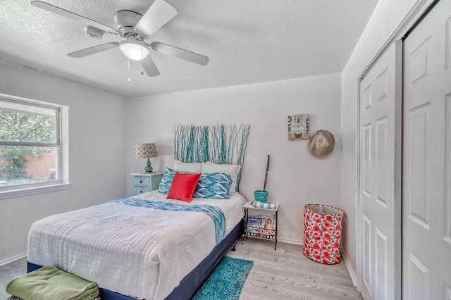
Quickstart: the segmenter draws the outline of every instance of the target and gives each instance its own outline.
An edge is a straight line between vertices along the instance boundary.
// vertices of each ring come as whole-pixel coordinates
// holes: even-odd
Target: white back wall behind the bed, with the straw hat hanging
[[[307,140],[288,141],[288,115],[299,113],[310,114],[311,132],[335,136],[328,158],[311,156]],[[127,123],[128,173],[144,168],[145,160],[134,156],[140,142],[156,142],[154,170],[172,166],[178,124],[250,124],[240,191],[253,199],[254,190],[263,188],[271,154],[268,201],[280,204],[279,237],[285,242],[302,242],[304,204],[340,206],[340,74],[129,99]],[[129,176],[128,194],[131,186]]]

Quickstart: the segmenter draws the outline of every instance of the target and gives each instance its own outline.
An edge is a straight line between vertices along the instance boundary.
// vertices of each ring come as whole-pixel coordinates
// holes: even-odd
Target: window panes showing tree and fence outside
[[[63,109],[0,94],[0,193],[66,181],[61,160]]]

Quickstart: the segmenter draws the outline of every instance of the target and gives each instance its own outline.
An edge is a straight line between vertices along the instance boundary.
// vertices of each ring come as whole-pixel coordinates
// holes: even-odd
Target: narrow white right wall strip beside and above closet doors
[[[342,71],[341,206],[347,211],[342,240],[351,273],[357,270],[357,87],[359,76],[392,35],[399,39],[428,0],[379,0]],[[412,11],[412,13],[411,13]],[[409,15],[409,18],[406,18]],[[405,20],[404,20],[405,19]],[[402,26],[400,26],[402,25]],[[399,28],[398,28],[399,27]]]

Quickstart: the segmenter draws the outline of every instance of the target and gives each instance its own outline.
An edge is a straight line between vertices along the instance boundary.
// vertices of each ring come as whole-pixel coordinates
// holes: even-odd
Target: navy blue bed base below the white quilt
[[[235,246],[235,242],[239,239],[244,232],[244,220],[240,220],[240,223],[235,225],[233,230],[219,243],[213,251],[206,256],[204,260],[197,265],[188,275],[180,281],[180,285],[175,287],[171,294],[166,297],[167,300],[183,300],[191,299],[197,292],[197,289],[202,286],[207,277],[213,272],[216,265],[221,262],[222,258],[226,255],[228,250]],[[27,263],[27,272],[42,268],[42,265],[35,265],[34,263]],[[129,296],[112,292],[109,289],[99,288],[101,300],[136,300]]]

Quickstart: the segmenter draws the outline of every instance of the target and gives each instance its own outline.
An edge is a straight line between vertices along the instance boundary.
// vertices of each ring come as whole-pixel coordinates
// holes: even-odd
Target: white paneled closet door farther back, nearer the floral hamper
[[[400,76],[397,65],[401,70],[397,46],[393,44],[374,63],[359,87],[358,288],[364,299],[400,297],[399,253],[395,258],[396,247],[400,251],[400,231],[396,232],[395,226],[400,227],[401,216],[399,189],[395,191],[395,180],[399,187],[401,172],[400,156],[395,155],[400,154],[401,144],[400,125],[396,123],[400,122],[401,112],[401,99],[395,88]]]

